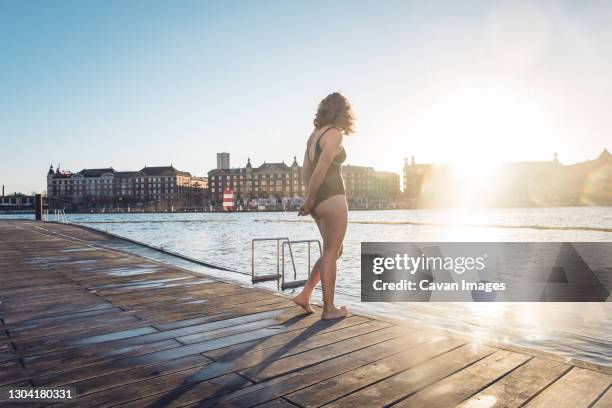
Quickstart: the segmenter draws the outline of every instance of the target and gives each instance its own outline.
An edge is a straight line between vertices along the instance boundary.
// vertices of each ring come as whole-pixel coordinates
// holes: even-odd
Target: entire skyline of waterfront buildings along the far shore
[[[400,175],[373,167],[342,168],[351,209],[371,208],[476,208],[541,206],[609,206],[612,203],[612,154],[604,149],[594,160],[573,164],[549,161],[505,162],[495,167],[417,163],[406,158],[403,192]],[[50,166],[47,203],[72,211],[203,209],[225,202],[233,194],[249,209],[260,206],[297,206],[305,194],[301,167],[294,156],[282,162],[232,166],[230,153],[217,153],[217,166],[197,177],[170,166],[140,170],[113,167],[78,172]],[[3,186],[4,187],[4,186]],[[4,195],[4,194],[3,194]],[[12,197],[12,196],[9,196]],[[27,197],[26,197],[27,198]],[[49,201],[49,199],[51,201]],[[8,205],[17,205],[11,198]],[[6,200],[3,201],[6,204]],[[373,206],[373,207],[372,207]],[[211,208],[212,208],[211,207]],[[266,207],[267,208],[267,207]]]

